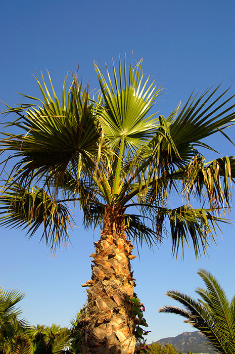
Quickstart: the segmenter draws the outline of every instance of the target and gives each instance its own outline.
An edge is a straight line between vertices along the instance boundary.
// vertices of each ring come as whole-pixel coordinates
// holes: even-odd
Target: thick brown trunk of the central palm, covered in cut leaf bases
[[[132,354],[136,318],[128,296],[133,296],[134,279],[130,271],[133,245],[126,240],[124,208],[107,206],[101,239],[95,242],[91,265],[88,306],[84,319],[83,353]]]

